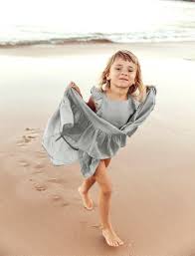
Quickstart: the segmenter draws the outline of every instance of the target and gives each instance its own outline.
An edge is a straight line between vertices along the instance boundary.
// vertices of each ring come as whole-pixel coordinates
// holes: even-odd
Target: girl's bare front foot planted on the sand
[[[115,232],[112,230],[112,228],[102,228],[100,227],[102,231],[102,235],[106,241],[106,243],[109,246],[119,246],[124,244],[123,241],[115,234]]]

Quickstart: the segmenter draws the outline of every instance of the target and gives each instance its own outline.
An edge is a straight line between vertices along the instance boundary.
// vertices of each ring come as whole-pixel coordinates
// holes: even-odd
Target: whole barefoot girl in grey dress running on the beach
[[[131,52],[117,51],[91,93],[89,108],[80,88],[70,83],[48,122],[42,144],[55,165],[80,160],[85,180],[78,190],[88,210],[94,208],[89,190],[98,182],[102,236],[109,246],[119,246],[123,241],[110,219],[112,185],[107,167],[118,148],[125,145],[126,135],[132,135],[153,110],[156,88],[143,85],[139,62]]]

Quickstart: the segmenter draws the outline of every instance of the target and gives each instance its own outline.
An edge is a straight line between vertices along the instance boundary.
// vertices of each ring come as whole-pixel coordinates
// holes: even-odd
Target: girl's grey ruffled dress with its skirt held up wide
[[[127,136],[131,136],[154,109],[156,88],[150,86],[148,89],[143,103],[132,98],[122,103],[110,103],[112,100],[93,87],[95,113],[76,90],[68,88],[42,138],[52,163],[63,165],[79,160],[83,176],[92,176],[100,159],[112,157],[125,146]],[[108,115],[113,111],[119,117],[117,122]],[[118,116],[118,113],[122,115]]]

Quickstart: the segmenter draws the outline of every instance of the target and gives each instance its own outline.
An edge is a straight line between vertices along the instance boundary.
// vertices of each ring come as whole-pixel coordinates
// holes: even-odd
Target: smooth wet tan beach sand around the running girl
[[[137,55],[156,106],[111,159],[111,220],[123,246],[106,245],[83,207],[79,162],[53,166],[42,134],[70,81],[84,100],[107,58]],[[0,255],[195,255],[195,43],[74,44],[0,49]]]

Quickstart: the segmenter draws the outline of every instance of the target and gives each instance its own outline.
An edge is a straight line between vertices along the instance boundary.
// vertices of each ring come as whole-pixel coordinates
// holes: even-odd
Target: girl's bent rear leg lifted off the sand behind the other
[[[110,160],[111,158],[104,159],[106,167],[108,166]],[[93,200],[89,196],[88,192],[95,182],[96,182],[96,178],[95,178],[95,175],[93,175],[85,179],[83,184],[78,188],[80,194],[82,195],[84,206],[89,210],[93,209]]]

